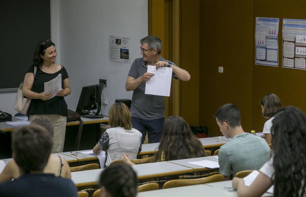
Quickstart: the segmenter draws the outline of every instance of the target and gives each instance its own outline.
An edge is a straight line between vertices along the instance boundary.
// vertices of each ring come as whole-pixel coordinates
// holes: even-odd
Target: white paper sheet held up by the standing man
[[[155,66],[148,65],[147,73],[153,73],[149,81],[146,82],[145,94],[170,96],[170,87],[172,79],[172,68],[159,67],[156,70]]]

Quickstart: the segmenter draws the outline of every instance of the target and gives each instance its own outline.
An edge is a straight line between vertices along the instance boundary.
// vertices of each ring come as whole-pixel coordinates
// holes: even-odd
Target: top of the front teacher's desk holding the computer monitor
[[[26,117],[26,116],[20,116],[20,117]],[[108,117],[97,118],[97,119],[81,117],[81,119],[83,120],[84,124],[98,124],[98,123],[105,123],[109,121]],[[20,121],[20,120],[15,120],[15,117],[12,117],[12,121],[14,122],[14,121]],[[66,126],[79,125],[79,124],[80,123],[78,121],[71,121],[71,122],[67,122]],[[15,128],[17,127],[13,127],[9,124],[6,124],[5,122],[0,122],[0,132],[1,133],[13,131],[13,129]]]

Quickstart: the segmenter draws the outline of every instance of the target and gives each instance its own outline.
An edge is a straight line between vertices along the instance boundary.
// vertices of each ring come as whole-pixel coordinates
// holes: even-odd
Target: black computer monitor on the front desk
[[[84,86],[81,91],[76,112],[86,118],[103,118],[99,115],[101,109],[101,94],[104,84]],[[95,114],[89,114],[91,110],[97,110]]]

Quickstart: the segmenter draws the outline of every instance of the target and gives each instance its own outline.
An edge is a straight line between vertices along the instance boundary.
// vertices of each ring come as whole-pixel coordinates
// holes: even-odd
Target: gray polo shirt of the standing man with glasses
[[[168,62],[168,60],[163,59],[162,56],[160,56],[159,61]],[[172,65],[176,66],[174,63],[172,63]],[[137,79],[146,72],[146,62],[144,62],[142,58],[137,58],[132,63],[128,76]],[[172,72],[172,78],[176,78],[174,75],[175,73]],[[131,115],[145,120],[165,117],[166,106],[164,96],[144,94],[145,88],[146,82],[143,82],[133,91]]]

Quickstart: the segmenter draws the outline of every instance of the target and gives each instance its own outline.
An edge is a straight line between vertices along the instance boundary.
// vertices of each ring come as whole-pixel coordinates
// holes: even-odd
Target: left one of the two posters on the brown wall
[[[255,64],[278,66],[278,24],[276,18],[256,17]]]

